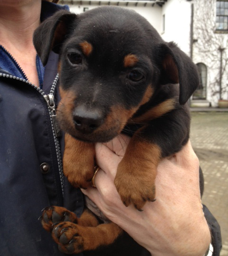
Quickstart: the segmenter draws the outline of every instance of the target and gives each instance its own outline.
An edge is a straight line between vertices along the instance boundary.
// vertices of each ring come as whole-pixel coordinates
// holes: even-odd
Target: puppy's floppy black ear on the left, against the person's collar
[[[44,65],[50,51],[59,53],[62,43],[70,33],[70,24],[76,20],[76,14],[66,10],[57,11],[43,21],[33,34],[33,43]]]

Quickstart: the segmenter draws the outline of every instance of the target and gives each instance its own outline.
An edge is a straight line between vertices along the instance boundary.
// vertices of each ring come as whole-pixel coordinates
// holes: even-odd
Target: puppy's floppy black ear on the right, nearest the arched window
[[[199,85],[199,73],[196,65],[173,42],[161,43],[157,50],[161,83],[179,83],[179,102],[180,104],[186,103]]]

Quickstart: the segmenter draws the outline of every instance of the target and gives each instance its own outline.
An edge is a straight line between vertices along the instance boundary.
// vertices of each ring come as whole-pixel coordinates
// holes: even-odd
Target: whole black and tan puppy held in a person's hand
[[[186,102],[199,83],[195,65],[142,16],[117,7],[59,11],[37,29],[34,44],[44,64],[50,51],[59,53],[57,116],[66,132],[69,182],[88,187],[94,143],[127,133],[132,138],[114,183],[124,205],[142,210],[155,199],[157,165],[189,139]],[[54,222],[60,223],[53,228]],[[98,225],[88,212],[77,219],[61,207],[46,209],[42,224],[66,253],[110,244],[121,232],[113,223]]]

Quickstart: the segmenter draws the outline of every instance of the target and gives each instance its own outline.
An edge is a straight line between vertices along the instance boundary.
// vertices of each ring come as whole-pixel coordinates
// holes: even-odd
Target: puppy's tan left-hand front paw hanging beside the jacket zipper
[[[94,144],[78,141],[66,133],[63,171],[70,184],[87,188],[94,175],[94,164]]]

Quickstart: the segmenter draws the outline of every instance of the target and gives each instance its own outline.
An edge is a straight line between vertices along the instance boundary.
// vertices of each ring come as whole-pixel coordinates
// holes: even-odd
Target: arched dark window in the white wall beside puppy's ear
[[[193,100],[206,100],[207,66],[204,63],[196,65],[199,71],[199,87],[193,93]]]

